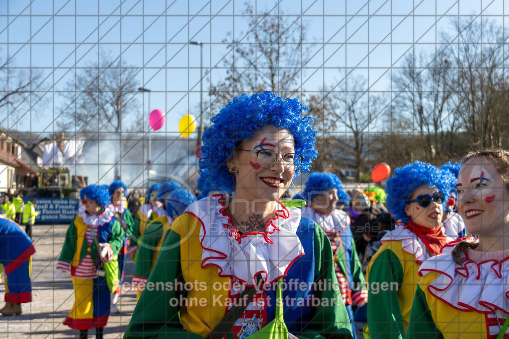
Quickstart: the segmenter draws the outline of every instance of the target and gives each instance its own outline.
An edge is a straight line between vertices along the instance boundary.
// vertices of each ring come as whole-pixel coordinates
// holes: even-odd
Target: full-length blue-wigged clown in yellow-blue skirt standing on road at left
[[[108,186],[89,185],[80,190],[81,204],[69,225],[55,278],[71,272],[75,302],[64,325],[86,338],[90,328],[103,337],[110,311],[110,290],[105,276],[97,274],[101,262],[117,260],[124,230],[115,218]]]

